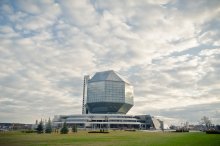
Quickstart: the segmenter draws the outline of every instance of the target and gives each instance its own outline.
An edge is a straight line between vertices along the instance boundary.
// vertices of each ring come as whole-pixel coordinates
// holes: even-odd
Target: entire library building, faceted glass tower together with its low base
[[[147,104],[147,103],[146,103]],[[54,127],[64,122],[79,129],[162,129],[164,123],[150,115],[127,115],[134,105],[131,83],[113,70],[84,76],[82,114],[55,115]]]

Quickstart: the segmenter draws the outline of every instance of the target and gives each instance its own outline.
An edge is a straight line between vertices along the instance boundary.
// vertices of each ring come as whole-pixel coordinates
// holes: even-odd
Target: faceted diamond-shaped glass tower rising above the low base
[[[86,88],[89,113],[126,114],[133,106],[133,86],[113,70],[95,73]]]

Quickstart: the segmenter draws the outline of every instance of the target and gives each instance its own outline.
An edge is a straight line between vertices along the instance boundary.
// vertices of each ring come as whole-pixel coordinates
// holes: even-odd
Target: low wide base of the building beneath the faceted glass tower
[[[160,120],[150,115],[125,114],[79,114],[57,115],[53,119],[54,127],[60,128],[66,122],[69,127],[77,125],[80,129],[161,129]]]

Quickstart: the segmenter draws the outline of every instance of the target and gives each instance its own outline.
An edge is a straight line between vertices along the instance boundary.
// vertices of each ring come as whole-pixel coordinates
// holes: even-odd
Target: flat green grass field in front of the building
[[[202,132],[129,132],[108,134],[80,131],[66,135],[21,132],[0,133],[0,146],[220,146],[220,135]]]

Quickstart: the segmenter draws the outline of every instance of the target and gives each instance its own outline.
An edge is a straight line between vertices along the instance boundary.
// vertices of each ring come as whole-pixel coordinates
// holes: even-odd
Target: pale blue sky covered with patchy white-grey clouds
[[[109,69],[128,114],[219,124],[220,1],[0,1],[0,122],[80,114],[83,76]]]

